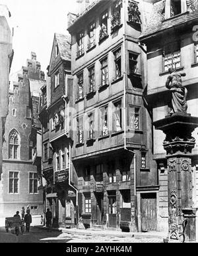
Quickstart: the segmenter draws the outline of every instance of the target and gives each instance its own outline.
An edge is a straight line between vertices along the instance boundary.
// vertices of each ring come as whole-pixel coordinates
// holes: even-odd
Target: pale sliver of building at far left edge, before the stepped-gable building
[[[0,5],[0,180],[2,172],[2,144],[5,119],[8,113],[9,73],[13,60],[13,34],[9,27],[11,13],[5,5]]]

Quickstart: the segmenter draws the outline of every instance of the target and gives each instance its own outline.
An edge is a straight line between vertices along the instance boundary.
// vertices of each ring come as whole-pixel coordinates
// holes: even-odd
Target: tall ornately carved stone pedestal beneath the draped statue
[[[168,166],[168,212],[170,239],[195,241],[195,214],[191,207],[191,151],[195,139],[191,133],[198,127],[198,117],[176,113],[153,123],[166,134],[164,149]],[[186,221],[187,220],[187,221]]]

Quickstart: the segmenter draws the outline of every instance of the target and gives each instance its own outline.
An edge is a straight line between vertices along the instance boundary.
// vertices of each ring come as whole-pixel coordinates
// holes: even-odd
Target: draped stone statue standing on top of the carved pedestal
[[[186,113],[187,112],[187,89],[182,86],[182,76],[186,76],[185,73],[177,72],[176,70],[169,68],[170,76],[166,80],[166,88],[172,91],[172,110],[173,113]]]

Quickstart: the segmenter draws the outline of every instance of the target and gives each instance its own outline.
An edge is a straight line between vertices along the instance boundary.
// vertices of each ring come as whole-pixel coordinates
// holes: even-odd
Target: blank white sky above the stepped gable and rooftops
[[[0,0],[11,12],[14,28],[11,80],[15,79],[31,52],[36,52],[41,69],[46,73],[54,33],[68,34],[67,13],[76,12],[76,0]]]

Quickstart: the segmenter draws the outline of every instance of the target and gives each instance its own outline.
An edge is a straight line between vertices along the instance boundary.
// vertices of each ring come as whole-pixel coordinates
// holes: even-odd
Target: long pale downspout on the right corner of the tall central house
[[[123,62],[124,62],[124,65],[123,65],[123,94],[124,94],[124,98],[123,98],[123,110],[124,110],[124,115],[123,115],[123,122],[124,122],[124,149],[133,153],[134,155],[134,196],[135,196],[135,204],[137,206],[137,192],[136,192],[136,168],[137,168],[137,157],[136,157],[136,153],[134,151],[131,151],[129,149],[127,149],[127,123],[126,123],[126,120],[127,120],[127,95],[126,95],[126,86],[127,86],[127,79],[126,79],[126,76],[127,76],[127,72],[126,72],[126,46],[125,46],[125,38],[126,38],[126,22],[127,22],[127,19],[126,19],[126,0],[123,1],[123,10],[124,10],[124,15],[123,15]],[[135,216],[135,219],[136,219],[136,216]]]

